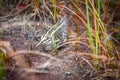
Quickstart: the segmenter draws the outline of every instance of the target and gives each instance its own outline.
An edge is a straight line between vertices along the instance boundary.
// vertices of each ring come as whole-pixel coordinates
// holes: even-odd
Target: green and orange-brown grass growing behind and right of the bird
[[[10,5],[17,6],[8,10],[10,13],[7,14],[4,12],[4,9]],[[40,20],[43,22],[46,21],[43,19],[47,17],[49,22],[55,24],[60,16],[66,16],[68,40],[64,44],[72,44],[75,54],[78,52],[92,55],[92,61],[89,59],[85,60],[90,65],[94,65],[97,72],[107,69],[119,70],[120,15],[117,12],[120,9],[119,7],[119,0],[29,0],[29,2],[21,0],[21,2],[16,1],[14,4],[9,2],[9,0],[0,0],[0,8],[3,10],[0,21],[8,21],[11,17],[25,15],[30,20]],[[30,12],[29,9],[31,8],[32,11]],[[13,15],[15,9],[19,12]],[[56,48],[54,37],[52,37],[52,42],[58,55],[59,50]],[[82,51],[84,49],[82,45],[85,45],[86,51]],[[3,66],[5,64],[1,54],[0,77],[4,74]],[[118,78],[120,78],[119,71]]]

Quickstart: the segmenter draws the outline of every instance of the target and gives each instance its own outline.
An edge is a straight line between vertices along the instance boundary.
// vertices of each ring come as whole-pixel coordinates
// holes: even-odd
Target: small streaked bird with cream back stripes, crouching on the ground
[[[53,41],[55,40],[56,47],[67,40],[67,23],[66,17],[61,17],[58,22],[50,27],[50,29],[41,36],[40,42],[35,46],[44,45],[45,50],[53,49]]]

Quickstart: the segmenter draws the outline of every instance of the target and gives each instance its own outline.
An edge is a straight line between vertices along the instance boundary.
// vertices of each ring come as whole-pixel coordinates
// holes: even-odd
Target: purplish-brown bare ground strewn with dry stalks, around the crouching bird
[[[67,6],[71,7],[70,4]],[[30,9],[28,8],[27,12],[30,12]],[[117,64],[116,67],[116,64],[114,66],[114,63],[111,63],[111,66],[106,66],[112,60],[102,55],[95,61],[96,56],[90,49],[86,28],[79,20],[75,22],[80,27],[76,27],[72,20],[74,15],[69,14],[66,9],[64,13],[67,14],[67,41],[57,52],[46,51],[42,45],[35,48],[39,43],[36,35],[41,37],[46,26],[56,23],[51,18],[46,18],[47,24],[45,20],[41,22],[39,16],[36,19],[27,19],[22,12],[26,11],[20,11],[14,16],[9,15],[8,18],[2,15],[3,20],[0,20],[0,48],[7,54],[8,80],[120,80],[120,65]],[[76,39],[79,35],[75,31],[81,36],[78,41]]]

